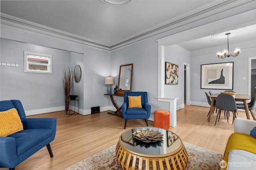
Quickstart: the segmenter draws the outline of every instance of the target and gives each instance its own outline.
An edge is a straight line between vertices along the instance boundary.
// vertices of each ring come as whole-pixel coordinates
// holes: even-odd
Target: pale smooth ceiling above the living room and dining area
[[[101,0],[1,0],[1,18],[14,17],[11,19],[16,22],[113,48],[162,33],[174,23],[228,3],[227,0],[131,0],[122,6],[111,6]],[[256,39],[255,26],[245,30],[236,39],[230,37],[230,42]],[[226,40],[213,41],[208,36],[179,45],[194,51],[221,44],[226,44]]]

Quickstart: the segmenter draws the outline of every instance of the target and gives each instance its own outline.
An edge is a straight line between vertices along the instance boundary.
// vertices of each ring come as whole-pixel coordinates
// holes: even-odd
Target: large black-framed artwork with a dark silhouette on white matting
[[[202,64],[201,88],[233,90],[234,62]]]

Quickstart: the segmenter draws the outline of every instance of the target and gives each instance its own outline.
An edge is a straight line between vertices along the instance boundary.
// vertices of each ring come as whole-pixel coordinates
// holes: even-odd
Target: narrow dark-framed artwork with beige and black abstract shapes
[[[165,71],[165,84],[178,84],[179,66],[176,64],[165,62]]]

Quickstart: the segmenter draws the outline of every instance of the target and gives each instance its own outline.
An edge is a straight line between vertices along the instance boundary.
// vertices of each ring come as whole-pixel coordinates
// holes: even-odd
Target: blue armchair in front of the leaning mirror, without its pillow
[[[128,108],[128,96],[141,96],[141,108]],[[124,92],[124,103],[122,104],[122,115],[125,119],[124,129],[126,128],[127,119],[145,119],[148,126],[148,118],[150,117],[151,105],[148,103],[147,92]]]

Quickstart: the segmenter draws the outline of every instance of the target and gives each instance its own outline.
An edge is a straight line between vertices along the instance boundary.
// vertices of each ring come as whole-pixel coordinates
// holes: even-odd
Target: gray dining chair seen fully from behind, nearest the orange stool
[[[233,113],[233,122],[232,123],[234,123],[234,119],[236,118],[237,107],[236,107],[236,101],[232,95],[219,94],[216,99],[215,107],[218,108],[219,110],[218,110],[218,114],[217,114],[214,126],[216,125],[218,117],[219,117],[218,121],[220,121],[220,113],[222,110],[224,111],[224,116],[226,115],[227,120],[229,117],[228,112],[232,111],[232,113]]]

